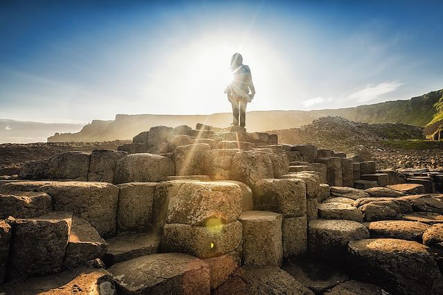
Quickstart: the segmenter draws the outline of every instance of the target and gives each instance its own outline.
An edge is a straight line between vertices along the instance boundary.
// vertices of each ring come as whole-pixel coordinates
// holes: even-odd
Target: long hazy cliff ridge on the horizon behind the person
[[[347,120],[363,123],[405,123],[424,127],[433,122],[438,127],[443,123],[443,89],[432,91],[409,100],[380,102],[343,109],[314,111],[250,111],[247,114],[248,132],[289,129],[311,123],[324,116],[341,116]],[[77,133],[55,134],[48,142],[60,141],[114,141],[131,139],[152,126],[175,127],[205,123],[227,127],[232,122],[231,114],[212,115],[117,115],[115,120],[93,120]],[[440,117],[442,117],[440,119]],[[436,127],[435,127],[436,129]],[[425,129],[426,130],[426,129]]]

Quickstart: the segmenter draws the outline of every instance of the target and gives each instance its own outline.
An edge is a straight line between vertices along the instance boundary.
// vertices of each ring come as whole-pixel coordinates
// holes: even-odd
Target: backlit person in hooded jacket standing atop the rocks
[[[246,125],[246,105],[255,96],[251,69],[243,64],[242,55],[235,53],[230,59],[230,70],[233,72],[233,80],[226,87],[225,93],[233,106],[233,125],[244,128]]]

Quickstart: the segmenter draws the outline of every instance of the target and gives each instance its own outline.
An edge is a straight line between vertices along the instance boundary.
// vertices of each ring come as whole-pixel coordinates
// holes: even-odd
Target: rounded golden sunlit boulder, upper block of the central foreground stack
[[[242,190],[226,182],[183,184],[170,197],[166,222],[171,224],[226,224],[235,222],[242,212]]]

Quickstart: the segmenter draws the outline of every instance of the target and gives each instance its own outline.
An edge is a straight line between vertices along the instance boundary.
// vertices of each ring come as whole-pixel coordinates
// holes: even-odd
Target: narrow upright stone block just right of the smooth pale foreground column
[[[306,252],[307,218],[289,217],[282,221],[283,256],[297,256]]]

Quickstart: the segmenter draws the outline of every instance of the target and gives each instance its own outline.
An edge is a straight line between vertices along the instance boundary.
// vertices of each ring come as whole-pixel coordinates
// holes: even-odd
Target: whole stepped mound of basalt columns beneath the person
[[[442,294],[442,170],[208,125],[118,149],[0,181],[0,294]]]

